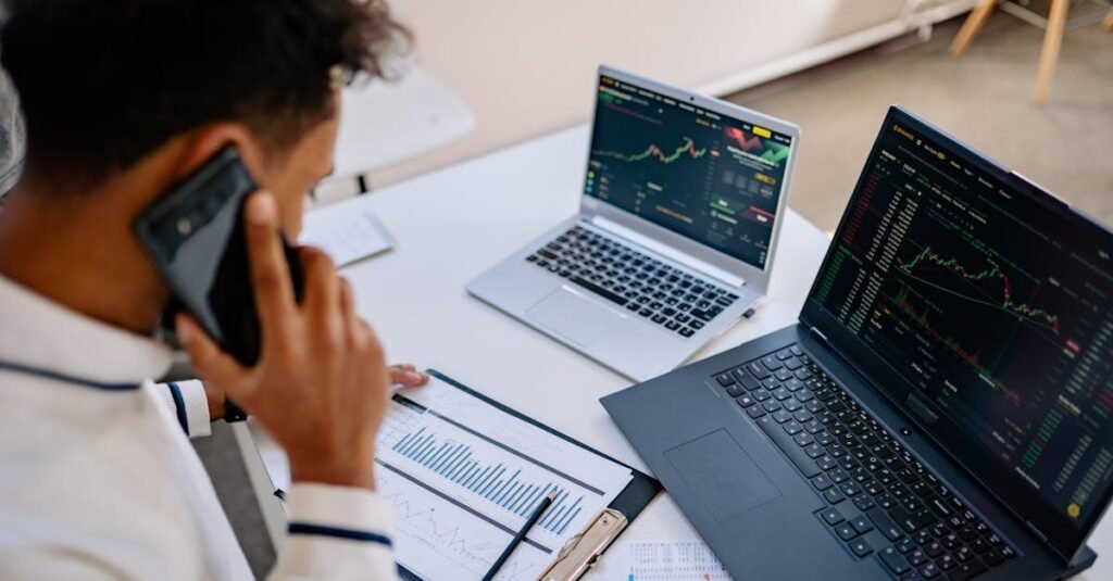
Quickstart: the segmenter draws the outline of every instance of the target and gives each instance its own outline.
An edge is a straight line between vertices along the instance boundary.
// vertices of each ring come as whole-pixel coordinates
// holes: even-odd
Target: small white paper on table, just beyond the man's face
[[[308,213],[298,242],[321,248],[338,267],[394,247],[394,238],[374,213],[351,204]]]

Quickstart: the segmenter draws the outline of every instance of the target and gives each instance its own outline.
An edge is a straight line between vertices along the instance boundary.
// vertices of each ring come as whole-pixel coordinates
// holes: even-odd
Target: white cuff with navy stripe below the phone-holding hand
[[[371,491],[295,483],[272,580],[396,579],[393,506]]]

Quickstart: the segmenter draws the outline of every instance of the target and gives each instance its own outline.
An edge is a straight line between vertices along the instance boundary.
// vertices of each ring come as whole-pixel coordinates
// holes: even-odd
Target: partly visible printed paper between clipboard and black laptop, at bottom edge
[[[638,541],[600,561],[612,581],[730,581],[730,574],[702,541]]]

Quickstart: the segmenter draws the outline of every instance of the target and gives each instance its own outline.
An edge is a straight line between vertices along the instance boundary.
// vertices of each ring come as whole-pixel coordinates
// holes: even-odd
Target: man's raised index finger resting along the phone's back
[[[268,327],[285,324],[295,312],[294,284],[283,254],[278,228],[278,208],[266,191],[252,194],[245,211],[247,255],[259,323]]]

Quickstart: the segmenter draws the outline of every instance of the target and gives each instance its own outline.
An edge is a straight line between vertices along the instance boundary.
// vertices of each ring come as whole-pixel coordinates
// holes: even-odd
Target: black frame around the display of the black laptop
[[[948,149],[949,154],[962,158],[963,161],[985,171],[992,178],[1011,188],[1011,191],[1043,205],[1048,211],[1054,211],[1072,220],[1077,220],[1080,227],[1097,228],[1113,240],[1113,233],[1107,228],[1087,216],[1075,211],[1058,198],[1031,181],[1021,178],[1006,167],[977,154],[957,139],[929,126],[927,122],[897,106],[889,108],[885,122],[878,131],[869,157],[866,159],[866,165],[858,177],[854,196],[847,204],[843,218],[839,221],[834,240],[839,239],[840,233],[846,227],[853,214],[855,200],[867,178],[869,164],[879,154],[881,140],[894,124],[900,124],[902,127],[909,128],[913,132],[934,140],[936,144]],[[1046,543],[1055,553],[1063,558],[1064,561],[1070,561],[1084,545],[1086,539],[1109,508],[1110,499],[1113,496],[1113,485],[1107,486],[1103,491],[1095,492],[1095,496],[1100,499],[1099,510],[1093,511],[1081,526],[1075,526],[1066,515],[1055,511],[1035,490],[1027,485],[1022,485],[1020,477],[1013,474],[1007,464],[1001,462],[976,441],[963,436],[964,431],[948,416],[938,413],[934,404],[929,403],[928,405],[933,411],[938,413],[938,420],[932,425],[926,425],[925,422],[920,421],[920,417],[912,412],[905,403],[908,395],[916,392],[912,382],[906,380],[895,367],[878,357],[864,341],[856,337],[834,315],[824,309],[820,301],[817,298],[823,278],[821,273],[826,272],[837,246],[837,242],[833,242],[828,247],[827,256],[819,268],[820,274],[816,276],[812,287],[808,293],[808,298],[805,302],[804,309],[800,313],[800,322],[824,334],[827,337],[829,347],[867,377],[873,386],[889,398],[894,405],[905,411],[906,415],[923,430],[923,433],[932,437],[943,450],[949,453],[966,470],[971,477],[981,482],[989,494],[1001,500],[1022,522],[1026,522],[1030,528],[1035,528],[1040,534],[1045,536]],[[918,398],[918,401],[925,402],[924,398]],[[992,466],[992,469],[986,470],[987,466]]]

